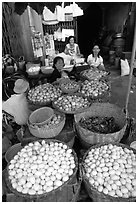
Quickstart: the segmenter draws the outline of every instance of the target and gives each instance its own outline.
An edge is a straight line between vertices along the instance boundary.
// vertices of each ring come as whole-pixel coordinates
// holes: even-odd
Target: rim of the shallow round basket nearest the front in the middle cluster
[[[55,101],[57,101],[58,99],[55,99],[54,101],[52,101],[52,106],[53,108],[55,108],[56,110],[58,110],[59,112],[62,112],[62,113],[65,113],[65,114],[77,114],[77,113],[81,113],[81,112],[84,112],[86,111],[90,106],[91,106],[91,100],[88,98],[88,97],[85,97],[83,94],[81,93],[72,93],[72,94],[67,94],[67,95],[62,95],[62,96],[70,96],[70,95],[77,95],[77,96],[81,96],[83,98],[87,98],[88,102],[89,102],[89,106],[85,107],[85,108],[79,108],[77,109],[76,111],[64,111],[60,108],[58,108],[56,105],[55,105]]]

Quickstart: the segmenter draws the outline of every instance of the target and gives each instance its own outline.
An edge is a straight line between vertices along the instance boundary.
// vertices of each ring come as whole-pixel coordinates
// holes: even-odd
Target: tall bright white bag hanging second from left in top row
[[[57,5],[55,7],[55,15],[57,16],[57,20],[59,22],[65,21],[65,13],[64,13],[64,2],[62,2],[62,5]]]

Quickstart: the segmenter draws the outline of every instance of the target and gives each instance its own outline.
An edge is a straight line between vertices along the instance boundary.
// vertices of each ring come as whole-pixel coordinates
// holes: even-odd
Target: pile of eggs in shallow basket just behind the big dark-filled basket
[[[109,85],[105,81],[88,81],[82,84],[81,93],[90,98],[96,98],[109,90]]]

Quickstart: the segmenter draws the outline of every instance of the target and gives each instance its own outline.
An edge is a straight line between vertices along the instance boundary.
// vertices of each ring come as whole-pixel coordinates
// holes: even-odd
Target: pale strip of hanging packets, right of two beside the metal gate
[[[55,44],[53,35],[49,35],[48,33],[44,36],[44,43],[46,47],[46,55],[51,55],[55,53]]]

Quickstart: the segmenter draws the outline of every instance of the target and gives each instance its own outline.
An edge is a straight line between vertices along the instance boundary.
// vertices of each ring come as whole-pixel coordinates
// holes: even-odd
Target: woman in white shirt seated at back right
[[[92,54],[90,54],[87,58],[87,63],[91,68],[98,68],[99,70],[105,70],[103,64],[103,58],[99,54],[100,48],[98,45],[95,45],[92,49]]]

